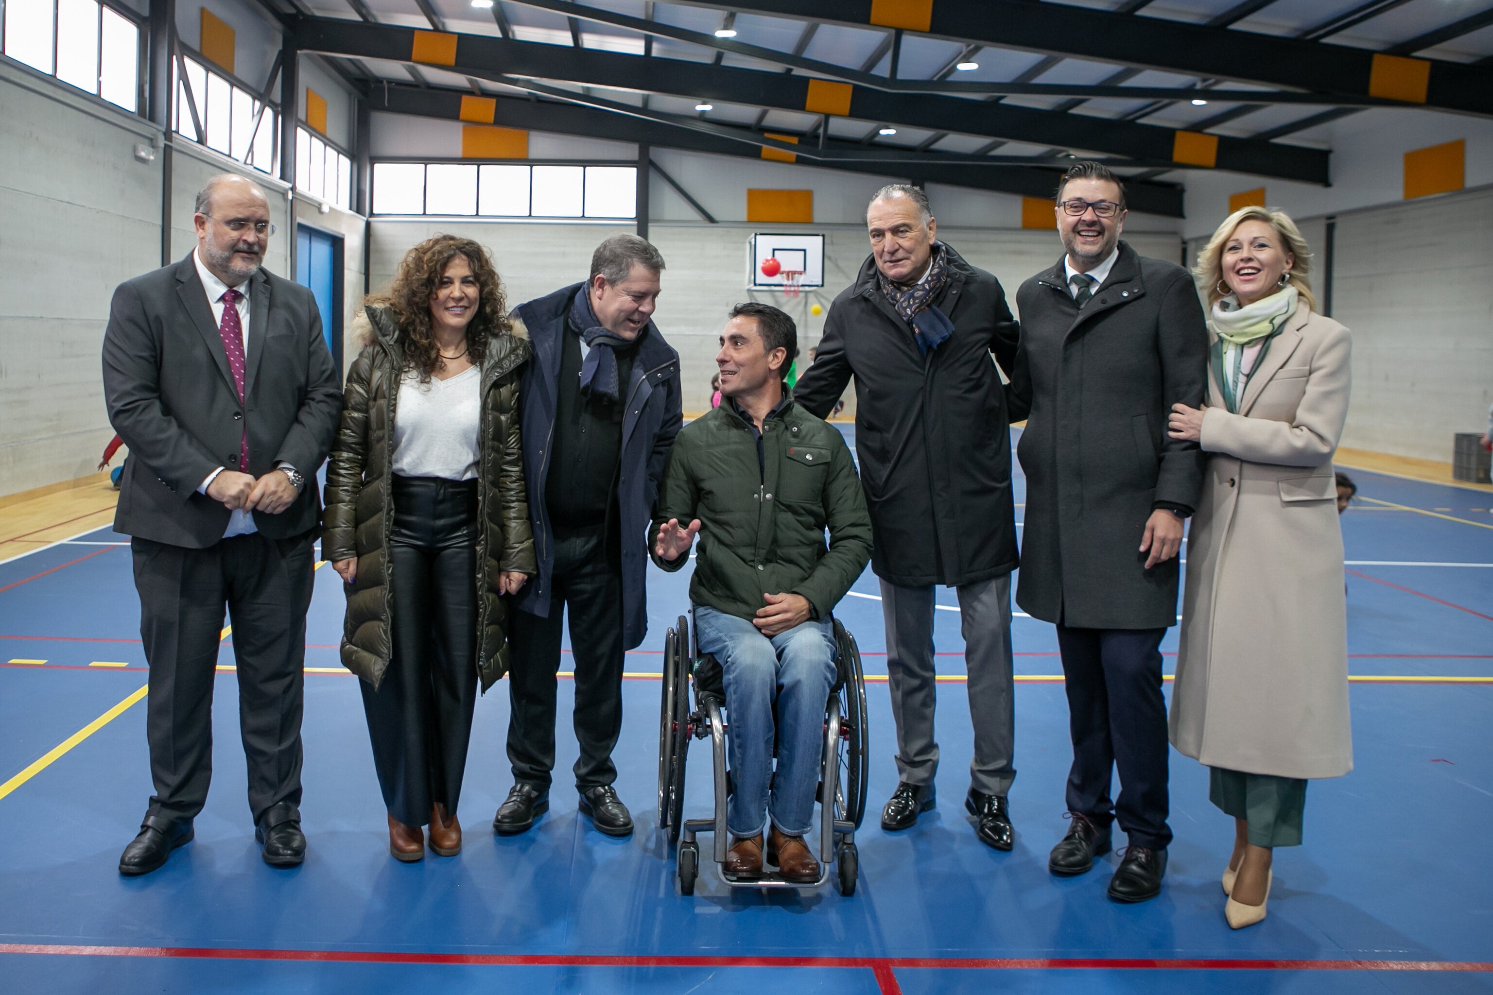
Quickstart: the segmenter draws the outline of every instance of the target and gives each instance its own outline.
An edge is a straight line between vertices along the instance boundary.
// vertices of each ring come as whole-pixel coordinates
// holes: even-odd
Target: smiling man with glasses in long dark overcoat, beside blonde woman
[[[1027,476],[1017,604],[1057,625],[1073,765],[1053,874],[1082,874],[1129,837],[1115,901],[1162,891],[1168,817],[1162,638],[1176,624],[1176,552],[1203,453],[1171,439],[1172,404],[1202,406],[1208,331],[1182,267],[1120,240],[1124,186],[1075,163],[1057,189],[1066,249],[1021,285],[1012,418]],[[1114,771],[1120,797],[1111,800]]]

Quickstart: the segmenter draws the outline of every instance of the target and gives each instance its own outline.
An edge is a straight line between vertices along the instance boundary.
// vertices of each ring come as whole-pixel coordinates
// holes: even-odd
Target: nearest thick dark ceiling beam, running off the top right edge
[[[721,6],[709,0],[676,1]],[[870,22],[872,0],[730,0],[730,4],[745,13],[878,27]],[[1341,25],[1324,30],[1330,33]],[[1339,97],[1368,94],[1375,55],[1347,45],[1030,0],[938,0],[926,34]],[[1493,72],[1445,60],[1426,61],[1430,79],[1424,106],[1493,116]]]

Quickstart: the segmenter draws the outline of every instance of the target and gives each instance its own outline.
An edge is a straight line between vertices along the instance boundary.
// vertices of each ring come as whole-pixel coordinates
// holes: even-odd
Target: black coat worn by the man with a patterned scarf
[[[953,334],[926,357],[876,286],[872,257],[830,306],[814,364],[793,400],[820,418],[855,377],[855,455],[870,509],[878,577],[918,588],[978,583],[1017,565],[1011,431],[1000,376],[1017,322],[1000,282],[948,252],[933,301]]]

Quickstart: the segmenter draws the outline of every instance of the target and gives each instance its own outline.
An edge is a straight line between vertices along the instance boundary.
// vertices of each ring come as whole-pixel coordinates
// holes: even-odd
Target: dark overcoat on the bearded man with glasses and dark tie
[[[1200,407],[1208,331],[1191,276],[1124,242],[1078,310],[1063,260],[1017,292],[1012,404],[1030,407],[1017,604],[1073,628],[1176,624],[1176,558],[1145,568],[1157,506],[1197,507],[1203,453],[1166,434],[1172,404]]]

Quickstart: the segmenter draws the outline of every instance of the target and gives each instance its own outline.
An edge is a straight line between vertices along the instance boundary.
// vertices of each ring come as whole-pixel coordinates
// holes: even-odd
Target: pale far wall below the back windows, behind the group
[[[503,276],[511,304],[548,294],[587,277],[591,249],[615,233],[632,231],[615,224],[542,224],[473,221],[454,218],[379,219],[369,224],[369,273],[375,289],[388,286],[405,252],[436,233],[458,234],[488,246]],[[796,301],[781,294],[746,291],[746,237],[752,231],[818,231],[826,236],[823,291],[806,291]],[[939,227],[939,236],[966,260],[994,273],[1012,297],[1021,280],[1053,266],[1062,255],[1056,231],[1020,228]],[[1172,233],[1127,233],[1130,243],[1147,255],[1179,261],[1181,240]],[[700,412],[709,403],[715,373],[717,336],[732,304],[749,297],[784,307],[799,324],[799,349],[806,354],[824,330],[835,295],[848,286],[869,254],[861,225],[748,225],[730,222],[660,222],[649,239],[663,252],[667,270],[658,297],[655,321],[669,343],[679,351],[684,407]],[[824,313],[809,313],[821,304]],[[806,361],[806,357],[800,362]],[[802,368],[802,367],[800,367]],[[848,410],[854,398],[847,395]]]

